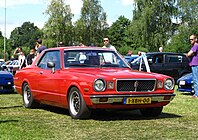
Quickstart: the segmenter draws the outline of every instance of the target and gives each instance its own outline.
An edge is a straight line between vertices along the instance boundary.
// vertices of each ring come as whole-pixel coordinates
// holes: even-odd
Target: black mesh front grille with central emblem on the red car
[[[155,79],[122,79],[117,80],[117,91],[145,92],[155,89]]]

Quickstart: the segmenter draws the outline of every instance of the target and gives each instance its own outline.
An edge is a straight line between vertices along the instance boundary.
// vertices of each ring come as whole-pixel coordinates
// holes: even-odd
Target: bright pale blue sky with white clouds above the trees
[[[48,20],[48,16],[44,12],[49,1],[0,0],[0,31],[3,36],[9,38],[11,32],[16,27],[21,27],[24,22],[34,23],[35,26],[41,29]],[[121,15],[129,20],[132,19],[133,0],[100,0],[100,2],[104,12],[107,14],[109,25]],[[74,14],[73,20],[77,20],[80,16],[82,0],[65,0],[65,3],[71,7],[71,12]]]

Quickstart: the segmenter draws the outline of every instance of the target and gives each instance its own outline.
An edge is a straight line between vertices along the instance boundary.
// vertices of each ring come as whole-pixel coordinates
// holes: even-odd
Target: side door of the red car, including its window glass
[[[52,69],[47,67],[48,62],[55,63],[55,72],[52,72]],[[39,61],[38,67],[40,69],[38,73],[38,91],[40,93],[41,100],[60,102],[60,66],[60,51],[57,50],[47,51]]]

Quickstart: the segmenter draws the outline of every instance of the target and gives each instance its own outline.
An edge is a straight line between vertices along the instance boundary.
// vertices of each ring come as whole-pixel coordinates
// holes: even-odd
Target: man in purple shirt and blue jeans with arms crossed
[[[192,45],[192,48],[186,54],[186,57],[190,58],[189,65],[192,68],[193,84],[195,90],[193,98],[198,98],[198,43],[196,35],[191,35],[189,41]]]

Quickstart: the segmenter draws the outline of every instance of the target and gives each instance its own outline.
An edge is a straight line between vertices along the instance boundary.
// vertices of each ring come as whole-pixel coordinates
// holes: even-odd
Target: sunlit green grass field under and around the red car
[[[0,94],[0,140],[193,140],[197,132],[198,99],[179,92],[158,118],[133,110],[98,111],[88,120],[50,106],[26,109],[19,94]]]

